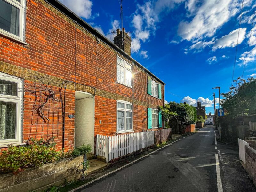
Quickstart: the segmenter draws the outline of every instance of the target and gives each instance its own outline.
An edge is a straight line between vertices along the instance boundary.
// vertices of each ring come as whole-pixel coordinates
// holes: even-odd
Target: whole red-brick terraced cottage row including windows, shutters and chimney
[[[164,82],[132,59],[124,28],[114,42],[59,1],[0,0],[1,150],[163,128]]]

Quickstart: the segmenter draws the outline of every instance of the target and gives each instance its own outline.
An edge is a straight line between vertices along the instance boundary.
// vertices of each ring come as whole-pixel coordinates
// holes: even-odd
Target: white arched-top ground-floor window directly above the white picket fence
[[[132,131],[132,103],[117,101],[117,132]]]

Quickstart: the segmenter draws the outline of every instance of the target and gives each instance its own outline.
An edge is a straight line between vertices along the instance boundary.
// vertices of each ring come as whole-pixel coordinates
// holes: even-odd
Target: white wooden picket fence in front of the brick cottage
[[[106,162],[154,145],[154,131],[96,137],[96,155],[105,157]]]

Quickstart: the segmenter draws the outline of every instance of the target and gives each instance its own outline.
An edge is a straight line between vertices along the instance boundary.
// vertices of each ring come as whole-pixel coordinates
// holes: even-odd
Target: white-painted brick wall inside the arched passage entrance
[[[90,144],[93,151],[95,99],[78,99],[75,104],[75,147]]]

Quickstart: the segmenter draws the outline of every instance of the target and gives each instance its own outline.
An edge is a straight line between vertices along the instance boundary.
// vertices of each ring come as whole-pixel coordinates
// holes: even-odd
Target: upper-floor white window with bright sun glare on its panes
[[[117,82],[132,87],[132,65],[117,56]]]

